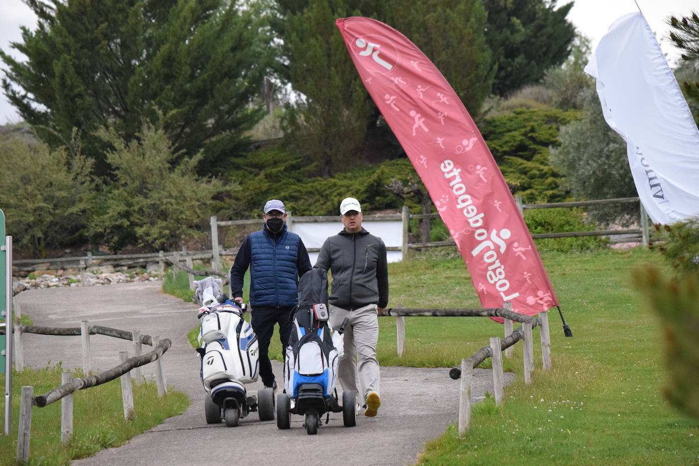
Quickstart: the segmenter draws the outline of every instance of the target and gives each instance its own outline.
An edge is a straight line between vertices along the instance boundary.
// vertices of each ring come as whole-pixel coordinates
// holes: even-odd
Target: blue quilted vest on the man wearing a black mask
[[[298,235],[287,231],[273,238],[265,226],[250,234],[250,305],[293,307],[298,303]]]

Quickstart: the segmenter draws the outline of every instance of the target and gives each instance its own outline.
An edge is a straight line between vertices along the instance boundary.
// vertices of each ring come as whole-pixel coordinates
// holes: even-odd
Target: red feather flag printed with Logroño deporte
[[[481,304],[511,301],[514,312],[529,316],[557,305],[505,178],[442,73],[382,22],[347,17],[336,24],[364,86],[449,228]]]

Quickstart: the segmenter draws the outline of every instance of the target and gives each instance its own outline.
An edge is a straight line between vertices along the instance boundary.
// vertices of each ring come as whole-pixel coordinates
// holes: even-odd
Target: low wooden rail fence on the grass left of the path
[[[103,326],[89,326],[87,321],[81,321],[80,327],[43,327],[24,326],[15,324],[15,368],[18,371],[24,369],[22,352],[22,333],[36,333],[41,335],[80,335],[82,337],[82,369],[87,377],[73,378],[71,372],[64,372],[61,375],[61,386],[34,396],[33,386],[22,386],[20,399],[20,423],[17,432],[17,462],[27,463],[29,461],[29,440],[31,438],[31,407],[43,408],[53,402],[61,400],[61,441],[70,442],[73,435],[73,392],[85,388],[105,384],[108,381],[120,378],[122,388],[122,405],[124,407],[124,418],[133,420],[134,395],[131,386],[131,371],[134,371],[136,384],[145,382],[143,369],[141,366],[148,363],[155,363],[155,383],[158,395],[167,393],[167,385],[162,370],[161,361],[165,352],[171,347],[169,338],[160,339],[158,336],[141,335],[139,330],[128,332],[117,328]],[[120,351],[120,364],[98,374],[90,374],[92,365],[90,363],[89,335],[106,335],[108,337],[131,340],[134,342],[134,356],[129,358],[127,351]],[[152,351],[142,354],[141,345],[147,344],[153,347]]]

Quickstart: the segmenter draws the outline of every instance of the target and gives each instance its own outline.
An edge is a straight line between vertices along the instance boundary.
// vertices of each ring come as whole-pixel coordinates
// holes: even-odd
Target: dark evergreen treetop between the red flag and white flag
[[[556,9],[556,0],[490,0],[486,41],[496,69],[493,94],[504,96],[563,63],[575,27],[565,20],[572,1]]]

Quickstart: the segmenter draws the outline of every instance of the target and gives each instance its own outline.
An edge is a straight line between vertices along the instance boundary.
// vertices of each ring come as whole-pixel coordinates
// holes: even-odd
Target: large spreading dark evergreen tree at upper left
[[[145,117],[163,112],[175,152],[203,149],[200,170],[222,166],[246,146],[261,117],[250,103],[269,49],[254,10],[224,0],[27,0],[38,16],[5,52],[10,103],[57,143],[80,131],[85,154],[108,173],[94,133],[113,123],[131,140]],[[50,131],[50,130],[52,131]],[[57,136],[54,136],[57,135]]]

